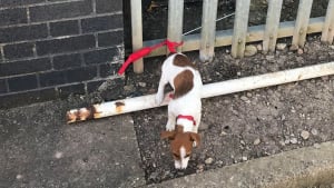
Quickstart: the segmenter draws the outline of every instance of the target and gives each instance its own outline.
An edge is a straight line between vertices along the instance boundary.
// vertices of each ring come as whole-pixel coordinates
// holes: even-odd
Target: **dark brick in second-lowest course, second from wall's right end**
[[[97,67],[82,67],[67,71],[68,82],[91,80],[97,77]]]

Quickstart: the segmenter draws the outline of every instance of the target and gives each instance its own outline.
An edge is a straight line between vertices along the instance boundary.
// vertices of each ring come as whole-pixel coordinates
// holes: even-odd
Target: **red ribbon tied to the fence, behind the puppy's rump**
[[[170,52],[176,52],[176,48],[181,46],[184,42],[173,42],[173,41],[169,41],[168,39],[160,42],[160,43],[157,43],[155,46],[151,46],[151,47],[144,47],[137,51],[135,51],[134,53],[131,53],[128,59],[122,63],[121,68],[118,70],[118,75],[122,75],[125,72],[125,70],[128,68],[128,66],[130,63],[132,63],[134,61],[149,55],[153,50],[157,49],[157,48],[160,48],[163,47],[164,44],[167,46],[168,50]]]

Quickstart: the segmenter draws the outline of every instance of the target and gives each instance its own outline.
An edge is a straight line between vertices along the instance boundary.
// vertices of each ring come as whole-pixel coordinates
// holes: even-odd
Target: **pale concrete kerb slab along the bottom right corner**
[[[149,188],[334,187],[334,141],[149,185]]]

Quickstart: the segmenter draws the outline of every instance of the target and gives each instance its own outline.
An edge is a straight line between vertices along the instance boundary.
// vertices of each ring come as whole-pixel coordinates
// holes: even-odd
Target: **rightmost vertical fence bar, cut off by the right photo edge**
[[[322,41],[332,43],[334,38],[334,0],[330,0],[322,33]]]

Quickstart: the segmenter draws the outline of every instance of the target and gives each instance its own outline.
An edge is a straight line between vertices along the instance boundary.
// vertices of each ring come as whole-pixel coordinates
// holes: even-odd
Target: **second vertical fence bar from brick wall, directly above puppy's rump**
[[[184,0],[169,0],[167,39],[176,42],[183,40]],[[181,51],[181,47],[177,48]],[[167,51],[168,53],[168,51]]]

